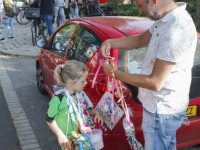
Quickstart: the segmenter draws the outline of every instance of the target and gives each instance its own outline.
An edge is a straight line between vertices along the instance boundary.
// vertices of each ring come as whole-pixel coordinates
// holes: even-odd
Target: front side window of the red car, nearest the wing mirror
[[[69,24],[63,28],[61,28],[54,36],[53,43],[52,43],[52,52],[60,55],[65,56],[66,49],[68,47],[70,38],[74,32],[76,24]]]

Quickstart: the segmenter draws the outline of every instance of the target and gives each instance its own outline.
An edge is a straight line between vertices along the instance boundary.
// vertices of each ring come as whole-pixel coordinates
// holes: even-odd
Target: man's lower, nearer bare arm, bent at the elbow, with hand
[[[150,75],[129,74],[119,70],[114,71],[114,74],[116,79],[122,82],[153,91],[159,91],[163,87],[175,64],[174,62],[163,61],[157,58]],[[113,70],[113,68],[112,63],[104,63],[104,71],[106,74]]]

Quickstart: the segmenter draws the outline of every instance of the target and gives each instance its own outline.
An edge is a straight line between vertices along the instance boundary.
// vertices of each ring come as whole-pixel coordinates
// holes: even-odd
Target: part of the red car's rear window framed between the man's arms
[[[119,50],[118,69],[127,73],[140,73],[147,46],[135,50]]]

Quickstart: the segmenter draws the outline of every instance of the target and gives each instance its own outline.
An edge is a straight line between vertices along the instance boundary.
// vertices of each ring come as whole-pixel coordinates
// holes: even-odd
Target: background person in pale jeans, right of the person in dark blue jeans
[[[57,21],[58,13],[61,16],[61,24],[64,23],[64,18],[65,18],[65,12],[64,12],[64,7],[65,7],[65,1],[64,0],[54,0],[55,3],[55,22]]]

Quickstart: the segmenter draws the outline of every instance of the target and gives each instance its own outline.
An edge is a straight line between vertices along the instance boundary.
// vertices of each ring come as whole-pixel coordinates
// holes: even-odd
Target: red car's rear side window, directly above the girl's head
[[[70,43],[67,59],[87,63],[101,44],[102,40],[93,31],[79,25]]]

